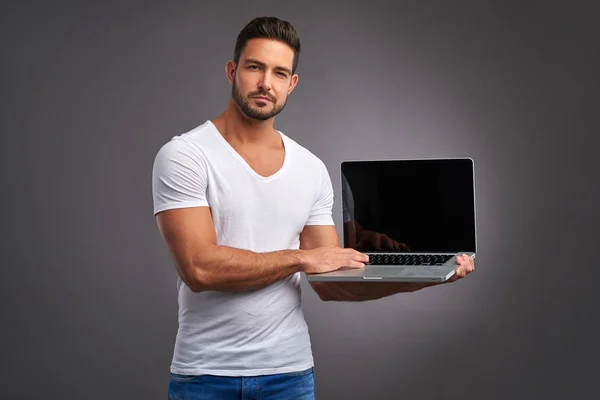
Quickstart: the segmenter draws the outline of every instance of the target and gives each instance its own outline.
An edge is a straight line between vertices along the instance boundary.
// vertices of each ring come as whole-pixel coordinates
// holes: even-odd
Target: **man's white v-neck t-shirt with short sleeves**
[[[211,121],[173,137],[154,161],[154,214],[208,206],[218,245],[259,253],[298,249],[305,225],[333,225],[333,188],[323,162],[279,133],[285,160],[270,177],[258,175]],[[252,376],[312,367],[300,278],[236,293],[193,293],[178,279],[171,372]]]

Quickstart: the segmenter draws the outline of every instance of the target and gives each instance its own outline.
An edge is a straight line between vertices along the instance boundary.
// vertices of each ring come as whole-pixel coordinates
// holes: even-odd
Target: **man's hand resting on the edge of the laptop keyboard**
[[[357,250],[326,246],[306,250],[300,267],[307,274],[322,274],[342,267],[363,268],[368,262],[369,256]]]

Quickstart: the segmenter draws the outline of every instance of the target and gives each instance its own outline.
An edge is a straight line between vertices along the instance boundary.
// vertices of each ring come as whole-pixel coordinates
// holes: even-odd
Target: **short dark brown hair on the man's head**
[[[294,50],[292,73],[296,72],[300,56],[300,39],[291,23],[275,17],[258,17],[248,22],[238,34],[235,42],[233,61],[236,64],[240,61],[240,55],[246,42],[256,38],[274,39],[290,46]]]

